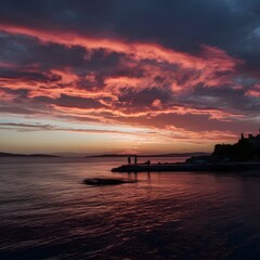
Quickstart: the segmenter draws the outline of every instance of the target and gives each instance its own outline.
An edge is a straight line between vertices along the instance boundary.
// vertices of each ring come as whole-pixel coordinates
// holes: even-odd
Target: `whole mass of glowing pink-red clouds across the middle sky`
[[[231,112],[223,108],[221,104],[219,108],[210,108],[210,102],[200,106],[198,104],[185,105],[185,98],[195,91],[197,86],[204,88],[230,86],[234,90],[240,88],[234,81],[234,76],[236,67],[242,64],[242,61],[216,47],[202,46],[200,53],[195,55],[153,42],[126,42],[123,39],[93,38],[74,31],[36,30],[10,25],[0,25],[0,30],[12,35],[34,37],[40,44],[57,43],[67,48],[82,47],[89,51],[84,56],[86,64],[91,62],[93,53],[99,49],[104,49],[104,55],[113,52],[122,54],[118,64],[105,68],[108,73],[104,75],[102,74],[104,69],[98,72],[91,67],[86,70],[83,67],[79,73],[69,66],[40,72],[40,61],[38,65],[32,64],[31,67],[26,68],[0,64],[5,68],[15,68],[20,73],[41,73],[43,79],[23,76],[1,77],[0,87],[13,91],[26,89],[28,92],[26,98],[23,98],[23,102],[27,102],[26,105],[29,108],[34,108],[37,99],[42,96],[49,99],[49,103],[44,103],[42,107],[48,107],[49,114],[53,117],[64,117],[76,121],[144,126],[155,129],[167,139],[184,140],[188,135],[194,142],[202,136],[211,140],[220,136],[226,140],[233,139],[234,132],[207,131],[207,123],[212,120],[231,122],[245,117],[243,113]],[[120,69],[126,73],[120,74]],[[140,72],[140,74],[131,74],[130,70]],[[90,83],[91,87],[86,87],[84,82]],[[136,100],[142,91],[153,89],[161,91],[162,98],[156,96],[157,92],[154,96],[147,94],[145,96],[151,98],[150,101],[143,100],[133,105],[134,99]],[[128,93],[132,96],[131,101],[128,99]],[[260,96],[258,87],[248,90],[246,94]],[[1,99],[6,102],[15,100],[17,95],[0,90]],[[69,104],[62,103],[60,99],[64,95],[72,98],[73,101],[69,101]],[[81,99],[81,103],[76,103],[77,98]],[[92,102],[91,104],[96,102],[100,106],[83,106],[84,101],[86,103]],[[181,126],[177,127],[177,121],[171,118],[172,116],[204,117],[203,123],[206,130],[196,132]],[[162,118],[161,121],[158,120],[159,117]]]

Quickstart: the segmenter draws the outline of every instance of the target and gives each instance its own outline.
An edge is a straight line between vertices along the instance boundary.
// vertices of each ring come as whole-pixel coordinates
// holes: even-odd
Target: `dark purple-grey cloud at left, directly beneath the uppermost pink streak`
[[[41,72],[69,67],[78,76],[99,72],[96,77],[100,78],[96,80],[102,80],[102,77],[118,74],[118,63],[123,57],[123,54],[107,53],[104,49],[92,51],[78,46],[68,48],[57,43],[41,44],[31,37],[3,32],[0,34],[0,62],[13,65],[13,68],[1,68],[0,64],[0,74],[4,70],[6,77],[14,76],[17,67],[22,70],[36,68]]]

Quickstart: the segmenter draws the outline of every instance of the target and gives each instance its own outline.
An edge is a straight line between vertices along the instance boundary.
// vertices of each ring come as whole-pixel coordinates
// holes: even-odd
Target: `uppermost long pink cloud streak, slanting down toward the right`
[[[74,31],[51,31],[26,27],[0,25],[0,30],[26,35],[39,39],[41,42],[54,42],[67,47],[81,46],[86,49],[105,49],[107,51],[121,52],[131,56],[132,60],[154,60],[159,63],[179,64],[183,68],[216,69],[218,72],[233,72],[240,61],[229,56],[224,51],[216,48],[202,46],[203,52],[196,56],[156,43],[125,42],[120,39],[93,38],[79,35]]]

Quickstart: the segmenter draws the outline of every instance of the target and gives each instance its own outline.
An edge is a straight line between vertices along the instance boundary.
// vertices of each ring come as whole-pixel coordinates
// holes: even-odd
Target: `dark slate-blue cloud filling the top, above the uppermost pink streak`
[[[260,51],[258,0],[2,0],[0,5],[1,22],[30,27],[153,40],[190,52],[205,43],[252,63],[251,53]]]

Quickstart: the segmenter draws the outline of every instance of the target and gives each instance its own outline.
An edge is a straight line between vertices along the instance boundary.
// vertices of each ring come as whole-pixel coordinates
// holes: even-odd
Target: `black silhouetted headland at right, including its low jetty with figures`
[[[242,171],[260,170],[260,134],[248,134],[235,144],[216,144],[210,155],[192,156],[185,162],[157,162],[134,164],[128,159],[128,165],[112,169],[115,172],[151,172],[151,171]]]

